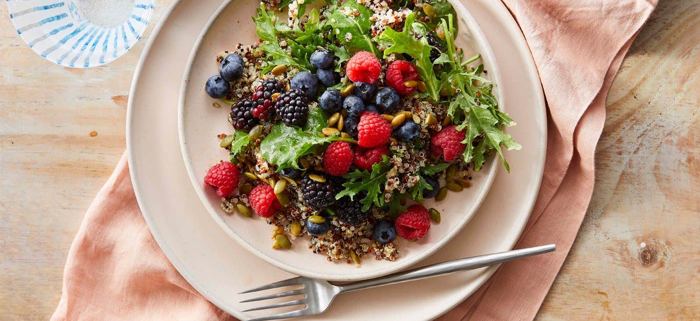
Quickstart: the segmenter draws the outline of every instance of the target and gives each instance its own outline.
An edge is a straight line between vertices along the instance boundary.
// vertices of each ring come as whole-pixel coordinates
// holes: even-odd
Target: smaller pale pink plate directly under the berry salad
[[[190,54],[190,59],[183,76],[179,104],[179,134],[185,166],[192,180],[197,195],[211,217],[234,240],[261,259],[290,273],[321,280],[352,281],[377,278],[381,275],[399,271],[429,257],[440,247],[454,238],[481,205],[482,200],[496,177],[496,170],[501,166],[493,157],[489,158],[484,168],[472,175],[472,186],[461,193],[450,193],[446,200],[436,203],[427,200],[426,207],[435,207],[442,215],[440,224],[433,224],[425,238],[417,242],[408,242],[399,238],[396,242],[400,257],[396,261],[363,260],[361,268],[354,264],[329,263],[324,255],[309,250],[309,238],[293,242],[291,250],[274,250],[270,245],[272,228],[265,219],[255,216],[248,219],[241,215],[231,215],[221,208],[221,198],[216,191],[204,184],[204,175],[212,165],[220,160],[228,161],[228,152],[218,146],[217,135],[232,133],[228,116],[230,108],[211,107],[213,100],[204,91],[204,83],[218,74],[215,57],[223,50],[235,50],[235,44],[253,44],[258,41],[255,24],[251,16],[260,4],[255,1],[228,0],[212,16],[202,30],[200,38]],[[500,83],[498,65],[491,57],[491,48],[484,34],[479,30],[474,18],[464,6],[454,2],[458,13],[459,32],[456,39],[458,46],[465,50],[465,55],[481,53],[487,75]],[[477,62],[478,63],[478,62]],[[500,86],[496,86],[496,97],[503,97]]]

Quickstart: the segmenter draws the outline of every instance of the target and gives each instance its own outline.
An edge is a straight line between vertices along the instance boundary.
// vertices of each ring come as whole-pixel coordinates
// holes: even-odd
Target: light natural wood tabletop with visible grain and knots
[[[699,7],[661,1],[629,50],[593,199],[540,319],[700,317]],[[69,69],[31,52],[4,5],[0,17],[0,319],[45,320],[83,214],[125,150],[146,41],[104,67]]]

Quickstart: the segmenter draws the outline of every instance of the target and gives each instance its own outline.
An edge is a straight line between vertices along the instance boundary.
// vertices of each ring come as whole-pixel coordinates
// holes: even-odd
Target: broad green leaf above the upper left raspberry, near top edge
[[[353,12],[359,15],[346,14]],[[338,41],[347,48],[349,53],[354,54],[365,50],[379,57],[377,46],[374,46],[370,37],[370,26],[372,26],[370,17],[372,17],[370,9],[354,0],[348,0],[330,13],[326,24],[332,27],[332,32],[335,32]],[[350,36],[346,36],[348,34]]]

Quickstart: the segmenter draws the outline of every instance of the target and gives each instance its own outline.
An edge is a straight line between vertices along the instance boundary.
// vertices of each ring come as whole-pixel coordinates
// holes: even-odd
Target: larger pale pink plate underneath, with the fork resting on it
[[[507,153],[512,173],[498,172],[470,223],[421,265],[510,250],[542,177],[545,104],[524,37],[500,2],[471,0],[465,5],[493,47],[503,74],[501,102],[518,121],[510,133],[523,149]],[[141,211],[163,252],[198,292],[245,319],[252,315],[239,310],[254,303],[238,303],[244,299],[237,294],[241,289],[292,275],[246,251],[211,219],[182,161],[177,128],[180,81],[190,48],[217,7],[214,1],[174,1],[160,18],[132,83],[127,153]],[[326,313],[309,320],[430,320],[463,301],[494,271],[495,266],[343,294]]]

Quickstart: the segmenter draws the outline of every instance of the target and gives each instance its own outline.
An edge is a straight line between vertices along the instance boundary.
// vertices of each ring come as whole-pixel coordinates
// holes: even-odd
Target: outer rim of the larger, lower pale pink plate
[[[202,294],[204,297],[206,297],[211,303],[214,303],[214,305],[218,306],[218,308],[221,308],[224,310],[226,313],[229,313],[230,315],[234,315],[235,317],[238,318],[245,318],[246,315],[243,315],[240,313],[238,310],[230,308],[228,304],[224,303],[223,301],[219,300],[218,296],[215,296],[212,294],[206,287],[204,287],[200,282],[197,281],[197,279],[189,273],[189,270],[185,264],[183,264],[183,261],[181,261],[178,257],[178,254],[172,250],[172,247],[169,247],[168,243],[165,240],[165,236],[160,234],[160,230],[157,225],[155,225],[155,219],[151,217],[151,214],[147,210],[148,205],[146,205],[145,202],[145,196],[141,193],[141,188],[139,187],[139,179],[137,179],[137,163],[134,161],[135,156],[134,156],[134,147],[133,147],[133,136],[134,133],[132,130],[135,130],[132,122],[133,122],[133,116],[134,116],[134,105],[133,102],[135,100],[134,97],[136,97],[134,94],[137,93],[137,87],[139,84],[139,79],[142,76],[142,67],[144,65],[144,62],[146,62],[147,58],[150,55],[151,48],[153,46],[153,43],[155,43],[155,40],[158,39],[158,36],[160,35],[160,31],[163,27],[165,27],[166,22],[169,20],[170,15],[174,11],[174,8],[180,4],[182,1],[180,0],[173,0],[169,6],[163,11],[162,15],[160,15],[160,18],[158,20],[158,23],[155,25],[155,28],[153,29],[153,32],[151,32],[148,41],[146,42],[146,46],[144,47],[144,51],[141,53],[141,56],[139,57],[139,62],[137,64],[137,67],[134,70],[134,76],[132,78],[132,86],[130,89],[130,98],[128,100],[128,108],[127,108],[127,119],[126,119],[126,140],[127,140],[127,158],[129,160],[130,164],[130,178],[132,179],[132,184],[134,187],[134,192],[135,196],[137,198],[137,201],[139,203],[139,208],[141,210],[142,216],[144,217],[144,220],[146,221],[146,224],[148,225],[148,228],[150,229],[151,233],[153,234],[153,237],[158,243],[159,247],[162,249],[166,257],[171,261],[173,264],[174,268],[180,273],[183,278],[187,280],[190,285],[192,285],[200,294]],[[545,97],[544,93],[542,91],[542,85],[540,82],[540,78],[538,75],[538,71],[535,67],[535,62],[533,60],[533,56],[531,51],[529,50],[527,44],[526,44],[526,39],[524,35],[521,33],[517,22],[514,20],[512,15],[510,15],[510,11],[507,10],[505,5],[503,3],[500,3],[500,1],[495,1],[498,2],[498,4],[491,3],[491,1],[483,1],[487,6],[491,6],[494,10],[493,12],[495,13],[496,16],[500,17],[504,23],[509,24],[510,27],[507,28],[510,30],[510,32],[514,35],[513,40],[514,44],[518,46],[519,49],[522,50],[524,53],[526,53],[526,64],[524,65],[524,68],[529,71],[528,72],[528,78],[532,81],[533,85],[535,86],[534,90],[536,93],[533,93],[533,96],[535,96],[535,100],[538,102],[538,108],[542,109],[544,111],[544,118],[542,119],[542,137],[539,140],[540,142],[540,153],[538,157],[538,168],[539,170],[534,171],[535,176],[533,178],[535,179],[535,182],[538,182],[538,186],[536,188],[531,189],[531,193],[529,195],[524,196],[524,199],[529,200],[530,205],[526,206],[528,209],[528,212],[531,212],[533,209],[533,206],[535,205],[535,198],[538,195],[538,191],[540,189],[541,185],[541,180],[542,180],[542,174],[544,171],[544,164],[545,164],[545,156],[546,156],[546,150],[547,150],[547,109],[545,106]],[[505,19],[505,20],[504,20]],[[514,27],[514,29],[513,29]],[[521,235],[522,231],[524,230],[525,224],[529,218],[529,215],[523,215],[521,216],[521,220],[518,222],[520,228],[520,233]],[[517,243],[518,238],[515,238],[510,244],[510,248],[514,246],[515,243]],[[490,278],[491,275],[496,271],[498,266],[491,266],[489,268],[485,268],[484,271],[473,280],[473,283],[475,284],[474,286],[470,287],[465,287],[461,289],[461,292],[463,292],[463,299],[466,299],[470,294],[475,292],[475,290],[483,285],[483,283],[486,281],[486,279]],[[447,310],[451,310],[455,306],[457,306],[459,303],[463,301],[456,301],[454,304],[450,304],[449,306],[444,306],[444,309],[437,309],[435,310],[435,313],[433,315],[429,315],[430,319],[433,319],[435,317],[438,317],[442,315],[443,313],[447,312]],[[426,315],[428,316],[428,315]]]

